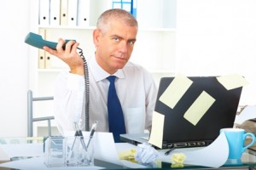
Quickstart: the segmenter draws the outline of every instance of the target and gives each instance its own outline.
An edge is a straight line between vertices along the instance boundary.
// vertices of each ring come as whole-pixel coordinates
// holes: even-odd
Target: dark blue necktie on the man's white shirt
[[[120,134],[125,133],[125,120],[119,98],[116,94],[114,80],[116,77],[108,77],[108,124],[109,132],[113,133],[114,142],[120,142]]]

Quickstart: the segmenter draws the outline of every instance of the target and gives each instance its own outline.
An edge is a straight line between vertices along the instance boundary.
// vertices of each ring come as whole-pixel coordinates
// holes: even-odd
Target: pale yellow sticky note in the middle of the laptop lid
[[[193,125],[196,125],[212,106],[214,101],[215,99],[213,99],[211,95],[203,91],[200,96],[195,99],[195,102],[189,107],[183,117]]]

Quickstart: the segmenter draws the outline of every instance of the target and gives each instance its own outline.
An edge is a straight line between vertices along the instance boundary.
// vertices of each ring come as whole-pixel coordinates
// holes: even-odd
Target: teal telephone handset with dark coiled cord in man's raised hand
[[[69,41],[71,40],[66,40],[65,42],[67,43]],[[44,46],[47,46],[52,49],[56,49],[56,46],[57,46],[57,42],[49,42],[47,40],[44,40],[41,35],[35,34],[33,32],[29,32],[26,35],[25,42],[29,45],[32,45],[35,48],[41,48],[41,49],[43,49]],[[66,43],[62,47],[63,49],[65,49]],[[90,128],[89,128],[89,103],[90,103],[89,72],[88,72],[86,59],[84,58],[83,50],[81,48],[78,48],[78,49],[79,49],[79,55],[84,61],[85,131],[90,131]]]

